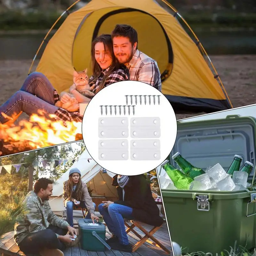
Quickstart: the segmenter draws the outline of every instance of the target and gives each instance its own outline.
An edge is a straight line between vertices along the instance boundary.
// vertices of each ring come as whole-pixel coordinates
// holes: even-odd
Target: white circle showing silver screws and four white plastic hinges
[[[85,109],[82,135],[101,167],[139,175],[159,166],[172,151],[176,116],[163,93],[138,81],[110,84]]]

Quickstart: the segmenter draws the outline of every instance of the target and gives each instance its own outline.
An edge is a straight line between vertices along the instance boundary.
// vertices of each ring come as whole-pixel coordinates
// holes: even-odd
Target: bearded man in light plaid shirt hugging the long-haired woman
[[[154,86],[161,92],[161,75],[155,60],[138,50],[137,31],[130,25],[116,25],[111,33],[114,54],[129,72],[129,80]]]

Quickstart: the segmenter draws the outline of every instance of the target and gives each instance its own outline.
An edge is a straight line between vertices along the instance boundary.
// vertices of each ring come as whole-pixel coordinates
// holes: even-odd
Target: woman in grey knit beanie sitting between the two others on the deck
[[[77,168],[69,171],[68,180],[63,183],[64,206],[67,207],[67,221],[71,227],[73,224],[73,208],[86,208],[88,213],[85,219],[99,220],[94,215],[96,204],[92,202],[92,198],[88,192],[87,185],[81,180],[81,172]]]

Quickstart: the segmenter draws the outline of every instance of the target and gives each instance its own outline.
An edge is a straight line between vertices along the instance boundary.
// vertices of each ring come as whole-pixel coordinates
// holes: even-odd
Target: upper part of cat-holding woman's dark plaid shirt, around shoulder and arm
[[[94,81],[93,84],[95,84],[95,86],[92,90],[93,93],[95,93],[96,90],[99,88],[99,86],[101,84],[101,81],[102,81],[104,75],[107,74],[108,70],[109,70],[109,68],[106,68],[106,69],[102,70],[101,75],[96,79],[96,81]],[[90,79],[89,79],[90,86],[93,85],[92,84],[93,80],[94,80],[94,77],[91,76]],[[119,68],[107,77],[107,79],[105,80],[104,87],[108,86],[109,84],[114,84],[116,82],[125,81],[125,80],[129,80],[129,78],[128,78],[125,70]]]

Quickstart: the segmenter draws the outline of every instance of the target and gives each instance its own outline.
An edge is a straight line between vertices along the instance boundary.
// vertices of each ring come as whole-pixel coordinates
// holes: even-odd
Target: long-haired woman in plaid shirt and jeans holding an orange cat
[[[129,80],[125,67],[121,67],[116,60],[111,35],[102,34],[93,40],[91,58],[93,75],[89,78],[89,88],[94,94],[109,84]],[[62,103],[70,100],[70,93],[77,100],[77,104],[72,110],[67,111],[55,106],[58,100]],[[16,115],[16,118],[13,119],[14,122],[20,112],[25,112],[31,116],[40,110],[49,119],[52,119],[50,116],[54,114],[54,119],[64,122],[82,122],[83,116],[79,114],[79,102],[90,102],[91,98],[78,92],[76,84],[69,88],[69,93],[64,93],[60,97],[46,76],[40,72],[33,72],[26,78],[21,89],[0,106],[0,123],[9,121],[5,115]]]

